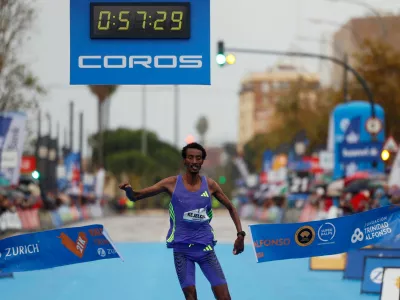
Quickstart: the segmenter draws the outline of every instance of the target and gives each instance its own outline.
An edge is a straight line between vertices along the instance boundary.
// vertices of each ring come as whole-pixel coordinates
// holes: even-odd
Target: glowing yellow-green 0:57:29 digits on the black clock
[[[148,23],[148,13],[144,10],[136,11],[136,15],[140,16],[138,19],[141,23],[141,28],[146,29],[148,25],[153,25],[153,29],[160,31],[165,30],[165,27],[162,24],[168,19],[167,11],[157,11],[157,19],[154,23]],[[98,30],[109,30],[111,25],[111,11],[102,10],[99,13],[99,21],[97,24]],[[118,20],[120,22],[120,26],[118,30],[129,30],[130,29],[130,19],[129,19],[130,11],[124,10],[120,11],[118,15]],[[149,17],[151,18],[151,16]],[[183,12],[182,11],[172,11],[171,12],[171,31],[179,31],[182,29],[182,20],[183,20]],[[114,24],[114,23],[113,23]]]

